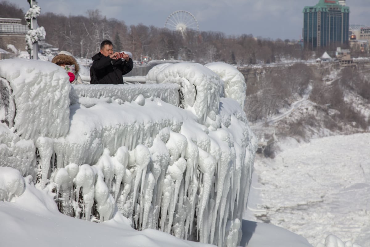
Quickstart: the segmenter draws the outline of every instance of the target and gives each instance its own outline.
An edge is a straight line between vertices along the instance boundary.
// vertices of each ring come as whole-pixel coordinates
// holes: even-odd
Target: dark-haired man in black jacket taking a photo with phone
[[[124,54],[122,59],[117,59],[118,52],[113,52],[110,40],[103,40],[100,52],[92,57],[90,68],[90,84],[123,84],[122,76],[134,67],[132,59]]]

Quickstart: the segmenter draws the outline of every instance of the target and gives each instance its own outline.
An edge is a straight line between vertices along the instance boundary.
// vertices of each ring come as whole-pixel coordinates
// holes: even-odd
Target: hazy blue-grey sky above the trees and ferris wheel
[[[24,10],[27,0],[8,0]],[[192,13],[201,31],[225,34],[253,34],[271,39],[299,39],[305,6],[319,0],[38,0],[41,12],[86,15],[99,9],[103,16],[124,20],[127,25],[164,27],[167,17],[177,10]],[[346,0],[350,24],[370,26],[370,1]]]

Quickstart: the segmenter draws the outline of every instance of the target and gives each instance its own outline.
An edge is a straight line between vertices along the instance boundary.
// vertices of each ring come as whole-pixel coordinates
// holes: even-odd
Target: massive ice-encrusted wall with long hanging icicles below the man
[[[0,138],[0,146],[6,147],[0,153],[6,161],[1,166],[31,175],[37,187],[54,193],[64,214],[105,221],[118,209],[138,230],[154,228],[189,240],[237,246],[256,138],[240,104],[220,97],[222,74],[187,63],[158,70],[157,83],[180,87],[183,109],[142,94],[124,101],[117,97],[121,90],[112,86],[102,87],[100,99],[82,103],[81,94],[70,105],[68,76],[55,64],[0,61],[0,68],[4,65],[8,71],[0,70],[0,77],[9,81],[17,110],[14,127],[0,128],[0,136],[6,136]],[[33,95],[27,107],[19,104],[23,97],[29,99],[17,88],[19,78]],[[65,112],[68,131],[48,134],[64,126],[58,116]],[[17,115],[29,121],[20,123]],[[40,127],[39,122],[55,124]],[[26,140],[18,128],[34,133],[33,138]],[[11,160],[12,154],[22,158]],[[20,191],[0,192],[3,200],[11,200]]]

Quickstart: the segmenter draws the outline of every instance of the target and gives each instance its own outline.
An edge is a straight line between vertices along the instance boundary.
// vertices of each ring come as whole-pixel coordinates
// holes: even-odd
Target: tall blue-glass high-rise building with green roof
[[[319,0],[303,9],[303,42],[305,47],[347,44],[349,39],[349,7],[339,0]]]

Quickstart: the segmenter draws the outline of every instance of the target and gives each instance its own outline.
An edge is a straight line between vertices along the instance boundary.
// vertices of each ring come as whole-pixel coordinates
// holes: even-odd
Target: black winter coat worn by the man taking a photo
[[[95,54],[92,60],[90,84],[123,84],[122,76],[134,67],[131,58],[128,61],[111,59],[100,52]]]

